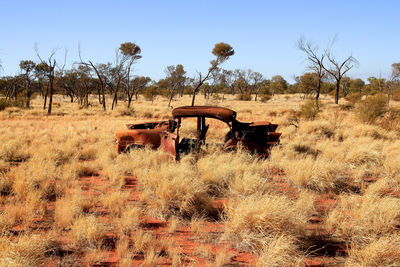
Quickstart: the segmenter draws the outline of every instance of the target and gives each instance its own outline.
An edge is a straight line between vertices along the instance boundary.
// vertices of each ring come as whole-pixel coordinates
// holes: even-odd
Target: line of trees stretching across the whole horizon
[[[366,84],[362,79],[347,76],[357,64],[352,56],[339,61],[331,47],[319,53],[316,46],[303,39],[299,40],[298,48],[306,55],[308,66],[307,72],[295,77],[293,84],[280,75],[267,79],[251,69],[223,69],[222,64],[235,53],[226,43],[215,45],[212,54],[216,58],[210,62],[207,72],[189,77],[183,65],[171,65],[166,67],[165,77],[158,81],[135,75],[133,65],[142,57],[141,48],[135,43],[121,44],[114,63],[84,60],[79,49],[79,60],[70,69],[65,68],[65,63],[56,62],[55,51],[43,58],[36,49],[38,60],[21,60],[18,75],[0,77],[0,100],[30,108],[31,99],[39,96],[48,114],[52,111],[54,94],[64,95],[83,108],[91,105],[93,100],[89,96],[95,95],[104,110],[114,109],[121,101],[129,108],[139,95],[149,101],[156,96],[166,97],[168,106],[183,95],[191,95],[194,105],[200,93],[204,98],[221,101],[226,95],[234,95],[239,100],[266,101],[275,94],[299,93],[317,101],[321,94],[332,94],[336,103],[340,97],[375,94],[387,95],[388,101],[400,100],[400,63],[392,64],[392,75],[388,79],[370,77]],[[111,107],[107,107],[107,98],[112,99]]]

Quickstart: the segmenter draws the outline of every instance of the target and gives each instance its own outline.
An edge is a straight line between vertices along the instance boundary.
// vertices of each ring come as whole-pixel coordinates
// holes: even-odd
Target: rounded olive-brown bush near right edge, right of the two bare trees
[[[386,112],[387,99],[384,96],[370,96],[361,101],[358,115],[363,122],[373,123]]]

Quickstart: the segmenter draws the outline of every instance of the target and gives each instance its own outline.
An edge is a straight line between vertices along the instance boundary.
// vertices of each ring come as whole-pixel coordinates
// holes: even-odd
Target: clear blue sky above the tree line
[[[280,74],[289,82],[306,71],[296,48],[300,36],[320,48],[337,35],[333,53],[360,62],[350,77],[390,75],[400,62],[400,1],[21,1],[0,0],[0,75],[19,72],[22,59],[37,60],[68,49],[67,67],[84,59],[113,62],[115,49],[135,42],[143,58],[138,75],[162,78],[168,65],[182,64],[189,75],[205,72],[215,43],[233,46],[223,67],[250,68],[265,78]]]

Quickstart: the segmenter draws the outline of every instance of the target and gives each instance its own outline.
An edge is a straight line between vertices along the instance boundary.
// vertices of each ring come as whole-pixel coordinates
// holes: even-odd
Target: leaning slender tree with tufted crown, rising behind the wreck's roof
[[[233,48],[226,43],[218,43],[214,46],[214,49],[212,50],[212,53],[214,56],[217,57],[215,60],[211,60],[211,66],[208,69],[208,72],[206,75],[202,75],[201,72],[198,73],[199,77],[196,81],[196,85],[193,89],[193,97],[192,97],[192,106],[194,106],[194,101],[196,94],[200,90],[200,87],[204,84],[205,81],[207,81],[210,78],[211,73],[218,68],[218,66],[222,63],[224,63],[226,60],[229,59],[230,56],[235,54],[235,51]]]

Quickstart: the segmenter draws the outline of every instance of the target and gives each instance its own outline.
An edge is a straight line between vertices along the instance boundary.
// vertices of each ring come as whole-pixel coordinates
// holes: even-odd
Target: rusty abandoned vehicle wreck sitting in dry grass
[[[179,130],[184,118],[197,118],[195,139],[180,138]],[[251,153],[268,156],[271,147],[279,143],[277,124],[268,121],[244,123],[236,120],[236,112],[214,106],[184,106],[172,111],[172,119],[140,124],[127,124],[128,129],[116,132],[118,153],[132,148],[150,146],[162,148],[176,159],[190,151],[199,151],[206,144],[209,124],[206,119],[217,119],[228,126],[223,143],[224,150],[233,150],[239,144]]]

